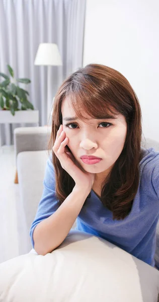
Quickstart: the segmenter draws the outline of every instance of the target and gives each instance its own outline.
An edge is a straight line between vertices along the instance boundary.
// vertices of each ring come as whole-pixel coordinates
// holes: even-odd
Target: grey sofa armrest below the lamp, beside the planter
[[[51,127],[19,127],[14,129],[15,160],[24,151],[46,150],[50,139]]]

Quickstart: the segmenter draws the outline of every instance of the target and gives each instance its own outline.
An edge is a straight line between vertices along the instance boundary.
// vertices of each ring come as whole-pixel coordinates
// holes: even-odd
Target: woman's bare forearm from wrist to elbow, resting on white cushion
[[[34,249],[40,255],[46,255],[56,249],[66,238],[80,213],[91,189],[74,186],[59,208],[36,226],[33,239]]]

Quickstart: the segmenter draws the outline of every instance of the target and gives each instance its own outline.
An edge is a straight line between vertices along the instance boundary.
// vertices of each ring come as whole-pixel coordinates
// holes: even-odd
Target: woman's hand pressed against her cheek
[[[95,174],[86,172],[76,162],[72,153],[68,152],[66,145],[69,139],[65,137],[65,132],[62,129],[63,126],[60,125],[52,150],[60,161],[61,167],[73,178],[75,185],[80,188],[88,188],[91,191],[95,181]]]

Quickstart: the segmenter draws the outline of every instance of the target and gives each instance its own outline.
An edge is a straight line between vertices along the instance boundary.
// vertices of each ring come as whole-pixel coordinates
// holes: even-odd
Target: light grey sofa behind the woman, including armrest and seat
[[[15,160],[18,171],[21,203],[17,205],[19,253],[32,249],[29,230],[34,220],[43,191],[43,179],[48,159],[47,143],[50,127],[21,127],[14,130]],[[159,150],[159,142],[150,138],[142,141],[145,146]],[[76,222],[72,229],[75,228]],[[159,266],[159,221],[156,230],[155,262]]]

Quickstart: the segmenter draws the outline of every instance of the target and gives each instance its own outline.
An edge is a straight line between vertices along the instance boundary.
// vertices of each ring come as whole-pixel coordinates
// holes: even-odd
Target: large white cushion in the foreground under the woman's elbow
[[[77,230],[52,253],[0,264],[0,301],[157,302],[158,292],[159,271]]]

